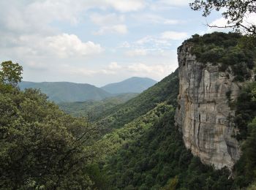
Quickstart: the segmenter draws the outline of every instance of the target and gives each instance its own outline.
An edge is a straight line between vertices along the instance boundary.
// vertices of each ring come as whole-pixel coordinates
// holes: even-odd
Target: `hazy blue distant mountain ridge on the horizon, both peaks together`
[[[110,83],[99,88],[89,83],[72,82],[30,82],[19,83],[20,90],[25,88],[37,88],[48,98],[56,103],[60,102],[86,102],[101,101],[102,99],[118,96],[119,94],[140,93],[157,83],[148,77],[130,77],[119,83]],[[110,87],[110,88],[109,88]]]

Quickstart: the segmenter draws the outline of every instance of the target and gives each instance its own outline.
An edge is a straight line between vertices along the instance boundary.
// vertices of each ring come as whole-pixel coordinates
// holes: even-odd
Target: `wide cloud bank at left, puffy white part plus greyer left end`
[[[101,45],[94,42],[82,42],[75,34],[59,34],[49,37],[24,35],[18,37],[13,43],[13,47],[4,47],[4,50],[10,48],[13,56],[19,57],[85,57],[102,53],[104,50]]]

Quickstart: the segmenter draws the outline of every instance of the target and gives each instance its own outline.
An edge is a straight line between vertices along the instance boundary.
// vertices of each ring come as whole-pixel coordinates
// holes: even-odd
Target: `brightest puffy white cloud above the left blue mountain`
[[[88,56],[101,53],[103,48],[94,42],[82,42],[74,34],[61,34],[45,39],[49,49],[61,58],[69,56]]]

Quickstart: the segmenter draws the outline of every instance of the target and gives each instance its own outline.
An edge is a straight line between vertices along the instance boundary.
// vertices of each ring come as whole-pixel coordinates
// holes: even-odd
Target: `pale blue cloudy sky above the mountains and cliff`
[[[20,64],[33,82],[159,81],[178,67],[184,39],[222,22],[187,0],[1,0],[0,60]]]

